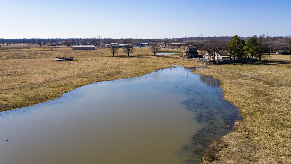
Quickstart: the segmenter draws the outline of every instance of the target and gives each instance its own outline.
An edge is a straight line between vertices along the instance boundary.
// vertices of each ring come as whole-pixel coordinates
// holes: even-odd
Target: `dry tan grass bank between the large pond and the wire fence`
[[[243,117],[212,163],[291,163],[290,87],[209,68],[194,73],[221,80],[223,97]]]

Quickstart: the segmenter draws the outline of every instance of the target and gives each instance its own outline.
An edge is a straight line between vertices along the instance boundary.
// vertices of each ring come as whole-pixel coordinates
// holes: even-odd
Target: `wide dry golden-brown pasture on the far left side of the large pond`
[[[133,54],[135,56],[130,57],[122,53],[111,57],[109,49],[63,49],[1,50],[2,55],[20,59],[0,60],[0,111],[51,100],[93,82],[138,77],[172,67],[175,62],[184,67],[201,66],[193,61],[149,56],[150,51],[146,48],[139,48]],[[76,60],[56,62],[53,61],[56,56],[74,56]]]

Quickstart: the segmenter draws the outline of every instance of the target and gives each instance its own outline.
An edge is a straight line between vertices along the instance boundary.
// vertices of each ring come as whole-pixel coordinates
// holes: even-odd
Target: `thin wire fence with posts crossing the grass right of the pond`
[[[238,70],[238,69],[234,70],[234,69],[225,68],[224,66],[217,66],[217,65],[209,66],[208,68],[216,69],[219,71],[226,71],[226,72],[230,72],[230,73],[240,74],[240,75],[244,75],[247,77],[251,77],[254,79],[259,79],[259,80],[263,80],[263,81],[267,81],[267,82],[273,82],[273,83],[278,83],[281,85],[290,86],[290,80],[277,79],[277,78],[269,77],[268,75],[266,76],[266,75],[259,74],[257,72],[250,72],[250,71]]]

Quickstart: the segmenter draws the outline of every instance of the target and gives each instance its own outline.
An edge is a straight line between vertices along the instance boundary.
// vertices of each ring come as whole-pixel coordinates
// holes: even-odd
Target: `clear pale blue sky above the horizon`
[[[291,34],[291,0],[0,0],[0,38]]]

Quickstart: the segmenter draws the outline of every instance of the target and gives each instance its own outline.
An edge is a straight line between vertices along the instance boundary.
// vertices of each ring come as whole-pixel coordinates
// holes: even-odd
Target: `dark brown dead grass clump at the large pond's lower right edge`
[[[202,159],[203,161],[213,161],[218,158],[217,152],[226,147],[226,143],[222,138],[215,138],[207,147]]]

